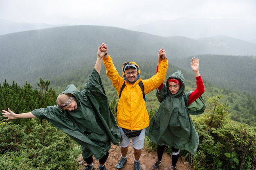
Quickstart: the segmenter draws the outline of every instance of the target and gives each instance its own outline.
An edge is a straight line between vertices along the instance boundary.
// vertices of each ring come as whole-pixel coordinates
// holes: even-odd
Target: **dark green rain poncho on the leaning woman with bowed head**
[[[78,108],[72,111],[61,110],[58,106],[47,106],[32,111],[40,119],[47,119],[57,128],[66,132],[82,146],[83,158],[94,155],[100,159],[111,147],[111,142],[119,145],[120,130],[112,115],[108,98],[98,72],[93,69],[83,90],[68,85],[61,94],[74,95]]]

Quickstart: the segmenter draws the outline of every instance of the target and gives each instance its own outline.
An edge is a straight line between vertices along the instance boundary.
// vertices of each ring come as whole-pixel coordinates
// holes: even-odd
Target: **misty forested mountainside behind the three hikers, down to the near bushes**
[[[191,81],[187,86],[190,91],[195,88],[191,57],[199,57],[206,86],[204,97],[222,89],[223,101],[229,101],[234,120],[248,124],[255,120],[256,44],[228,37],[165,38],[107,26],[63,26],[0,35],[0,84],[6,79],[10,84],[14,81],[22,86],[27,82],[38,88],[37,82],[42,78],[49,80],[57,93],[67,84],[81,89],[102,42],[107,44],[108,54],[120,74],[124,62],[135,61],[143,79],[155,74],[157,53],[163,47],[169,62],[167,76],[180,69],[186,81]],[[104,66],[101,78],[112,101],[117,93],[106,77]],[[148,94],[148,109],[155,110],[157,106],[154,92]]]

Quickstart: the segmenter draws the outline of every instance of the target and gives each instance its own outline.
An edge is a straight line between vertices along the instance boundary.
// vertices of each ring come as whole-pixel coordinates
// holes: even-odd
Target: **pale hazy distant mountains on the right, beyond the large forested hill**
[[[227,36],[256,43],[256,22],[242,19],[177,18],[131,26],[128,29],[164,37],[199,39]]]

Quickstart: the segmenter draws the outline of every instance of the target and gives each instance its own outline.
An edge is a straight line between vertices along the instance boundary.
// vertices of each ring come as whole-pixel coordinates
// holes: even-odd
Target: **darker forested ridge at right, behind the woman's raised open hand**
[[[191,57],[187,57],[186,61],[191,60]],[[196,55],[196,57],[200,59],[201,75],[213,86],[256,94],[255,56],[205,54]],[[173,60],[173,64],[186,71],[191,70],[190,65],[184,62],[184,59]]]

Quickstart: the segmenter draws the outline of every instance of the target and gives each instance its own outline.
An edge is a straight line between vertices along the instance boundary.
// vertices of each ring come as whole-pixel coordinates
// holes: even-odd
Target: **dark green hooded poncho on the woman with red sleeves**
[[[173,95],[168,86],[168,79],[178,79],[183,86]],[[155,115],[150,119],[146,135],[157,145],[173,146],[180,150],[187,150],[196,154],[199,137],[187,109],[189,93],[184,93],[185,82],[180,70],[168,77],[157,98],[161,103]]]

